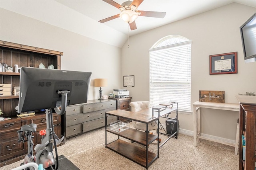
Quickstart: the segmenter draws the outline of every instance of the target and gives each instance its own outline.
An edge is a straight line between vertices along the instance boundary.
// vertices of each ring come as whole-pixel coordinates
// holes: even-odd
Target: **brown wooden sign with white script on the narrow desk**
[[[225,91],[199,90],[199,102],[225,103]]]

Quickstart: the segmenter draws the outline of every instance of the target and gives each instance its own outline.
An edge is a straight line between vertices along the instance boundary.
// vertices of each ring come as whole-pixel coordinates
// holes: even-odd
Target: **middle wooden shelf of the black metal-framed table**
[[[129,139],[131,141],[134,141],[136,143],[139,143],[141,145],[147,146],[146,144],[146,132],[143,131],[138,131],[136,129],[126,129],[122,132],[116,132],[113,131],[111,129],[106,129],[106,131],[110,132],[110,133],[114,133],[115,135],[118,135],[120,137],[124,137],[126,139]],[[152,142],[154,142],[156,139],[158,139],[158,137],[156,135],[152,135],[148,133],[148,145]]]

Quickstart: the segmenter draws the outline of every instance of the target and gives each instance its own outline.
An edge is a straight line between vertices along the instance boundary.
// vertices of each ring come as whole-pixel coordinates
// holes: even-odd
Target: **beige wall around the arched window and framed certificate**
[[[244,63],[239,27],[256,11],[232,3],[130,37],[122,47],[122,76],[134,75],[132,101],[149,100],[149,52],[162,37],[181,35],[192,41],[191,102],[199,100],[199,90],[224,90],[226,103],[238,103],[238,93],[256,92],[256,63]],[[209,75],[209,55],[238,52],[238,74]],[[238,112],[202,109],[202,133],[235,140]],[[193,115],[179,114],[180,128],[193,131]]]

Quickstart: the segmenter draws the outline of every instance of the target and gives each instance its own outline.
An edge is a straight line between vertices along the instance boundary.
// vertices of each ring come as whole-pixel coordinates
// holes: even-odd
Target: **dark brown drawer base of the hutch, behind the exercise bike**
[[[37,128],[34,132],[34,147],[41,143],[41,135],[39,131],[46,129],[46,115],[39,113],[34,116],[12,118],[10,120],[0,121],[0,166],[11,164],[18,160],[24,159],[28,154],[28,144],[18,143],[18,133],[20,127],[25,124],[36,123]],[[56,135],[61,138],[61,116],[56,113],[53,114],[54,131]],[[63,145],[61,143],[60,145]],[[34,148],[33,147],[33,148]],[[34,150],[34,149],[33,149]]]

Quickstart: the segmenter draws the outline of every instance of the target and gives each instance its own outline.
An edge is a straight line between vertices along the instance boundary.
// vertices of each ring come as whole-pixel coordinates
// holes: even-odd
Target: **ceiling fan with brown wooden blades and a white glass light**
[[[104,23],[106,21],[110,21],[110,20],[120,17],[120,18],[122,18],[122,20],[129,23],[131,30],[137,29],[136,23],[134,20],[136,20],[136,18],[138,18],[138,16],[164,18],[164,16],[166,15],[166,12],[137,11],[138,6],[140,6],[140,4],[143,2],[143,0],[133,0],[133,1],[128,0],[124,3],[122,3],[122,5],[114,2],[113,0],[103,0],[103,1],[120,9],[121,13],[116,14],[111,17],[108,17],[108,18],[105,18],[103,20],[100,20],[99,22]]]

